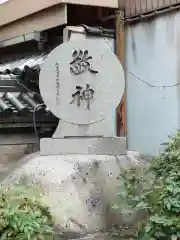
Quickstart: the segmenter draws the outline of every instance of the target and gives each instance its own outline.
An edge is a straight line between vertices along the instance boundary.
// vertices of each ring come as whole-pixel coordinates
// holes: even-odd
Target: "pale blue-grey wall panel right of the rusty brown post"
[[[173,11],[126,28],[130,150],[157,154],[180,128],[179,22],[180,11]]]

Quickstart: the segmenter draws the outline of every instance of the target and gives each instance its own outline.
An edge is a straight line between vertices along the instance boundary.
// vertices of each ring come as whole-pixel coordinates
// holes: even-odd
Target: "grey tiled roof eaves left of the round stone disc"
[[[46,54],[42,53],[0,64],[0,117],[32,115],[43,103],[41,97],[37,98],[25,83],[38,82],[40,66],[45,58]],[[49,111],[39,107],[37,112],[46,115]]]

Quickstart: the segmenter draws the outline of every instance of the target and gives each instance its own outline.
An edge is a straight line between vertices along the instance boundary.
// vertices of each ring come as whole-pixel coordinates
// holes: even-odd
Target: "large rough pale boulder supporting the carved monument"
[[[145,159],[145,158],[144,158]],[[140,153],[124,156],[29,155],[2,182],[2,186],[26,182],[37,186],[50,207],[57,228],[87,234],[107,230],[112,224],[132,224],[111,211],[119,192],[122,169],[147,164]]]

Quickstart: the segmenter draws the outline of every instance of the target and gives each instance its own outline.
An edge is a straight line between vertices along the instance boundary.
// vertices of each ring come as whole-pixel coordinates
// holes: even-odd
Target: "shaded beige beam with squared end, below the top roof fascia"
[[[14,38],[34,31],[43,31],[45,29],[49,29],[66,23],[66,5],[62,4],[59,6],[54,6],[41,12],[37,12],[21,20],[0,27],[0,41]]]

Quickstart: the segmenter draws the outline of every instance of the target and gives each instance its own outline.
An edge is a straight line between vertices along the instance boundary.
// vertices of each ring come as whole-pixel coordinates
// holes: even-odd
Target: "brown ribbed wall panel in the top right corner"
[[[180,0],[125,0],[126,18],[180,4]]]

